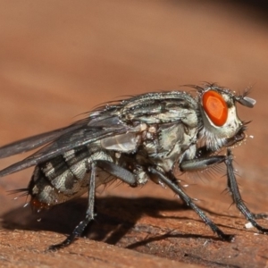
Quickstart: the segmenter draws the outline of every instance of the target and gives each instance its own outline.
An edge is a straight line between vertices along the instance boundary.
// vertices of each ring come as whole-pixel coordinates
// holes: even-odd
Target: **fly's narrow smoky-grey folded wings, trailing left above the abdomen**
[[[115,120],[111,118],[111,121]],[[108,122],[107,118],[105,122]],[[46,147],[41,148],[33,155],[29,155],[29,157],[21,160],[20,162],[13,163],[6,167],[4,170],[0,171],[0,177],[4,177],[13,172],[20,172],[21,170],[37,165],[38,163],[46,162],[57,155],[62,155],[68,150],[87,145],[88,143],[92,143],[96,140],[120,135],[126,132],[137,131],[137,128],[127,126],[123,123],[113,126],[107,125],[106,127],[98,127],[88,126],[87,122],[87,124],[83,123],[79,126],[73,125],[63,130],[54,130],[32,138],[22,139],[21,141],[15,142],[9,146],[0,148],[0,154],[2,149],[4,152],[3,154],[5,155],[15,155],[20,152],[40,147],[48,142],[53,142],[46,145]]]

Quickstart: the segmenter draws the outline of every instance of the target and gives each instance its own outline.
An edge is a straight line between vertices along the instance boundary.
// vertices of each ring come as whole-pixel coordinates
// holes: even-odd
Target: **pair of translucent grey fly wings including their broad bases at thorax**
[[[88,118],[77,121],[66,128],[24,138],[0,147],[0,158],[4,158],[45,146],[33,155],[29,155],[20,162],[13,163],[0,171],[0,177],[46,162],[68,150],[87,145],[96,140],[126,133],[127,131],[137,131],[136,128],[131,128],[131,126],[120,121],[117,114],[114,114],[115,110],[114,107],[99,109],[89,113]]]

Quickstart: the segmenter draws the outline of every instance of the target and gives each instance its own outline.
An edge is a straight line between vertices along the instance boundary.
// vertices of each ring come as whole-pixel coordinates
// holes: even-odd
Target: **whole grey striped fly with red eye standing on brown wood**
[[[171,188],[223,240],[231,241],[195,204],[175,171],[202,171],[219,163],[227,169],[227,188],[234,204],[256,230],[268,233],[242,201],[230,147],[245,138],[236,104],[254,107],[247,91],[236,95],[228,88],[205,84],[195,96],[184,91],[147,93],[98,107],[84,120],[68,127],[25,138],[0,148],[0,157],[42,147],[37,153],[0,171],[0,177],[35,166],[28,188],[30,204],[49,208],[88,192],[85,218],[56,250],[80,237],[95,217],[95,191],[121,180],[131,187],[153,180]],[[226,149],[226,154],[220,151]]]

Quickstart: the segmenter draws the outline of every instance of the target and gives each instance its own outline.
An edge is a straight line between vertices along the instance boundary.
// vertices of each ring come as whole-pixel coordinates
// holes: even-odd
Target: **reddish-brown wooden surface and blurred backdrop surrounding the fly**
[[[259,5],[250,1],[2,1],[0,144],[65,126],[76,120],[75,115],[120,96],[180,89],[181,85],[203,81],[237,91],[253,86],[251,96],[257,104],[252,110],[239,107],[239,116],[252,121],[247,134],[254,138],[247,138],[234,153],[247,205],[254,212],[268,212],[268,16],[264,1],[254,3]],[[22,156],[1,160],[0,168]],[[40,248],[43,252],[48,245],[61,241],[63,235],[58,233],[68,233],[77,223],[76,217],[84,214],[86,200],[81,201],[84,206],[79,206],[79,212],[76,206],[67,205],[61,217],[59,212],[51,212],[45,216],[49,221],[38,225],[30,209],[21,208],[25,198],[13,201],[14,196],[6,193],[25,188],[31,172],[26,170],[0,180],[0,214],[4,222],[0,255],[3,264],[10,266],[24,262],[27,265],[32,261],[32,251]],[[100,222],[109,225],[114,218],[118,220],[118,214],[122,219],[111,223],[112,227],[131,222],[122,231],[124,235],[110,243],[109,232],[95,227],[97,240],[131,249],[124,251],[125,259],[113,260],[116,250],[121,249],[115,247],[110,252],[107,244],[102,244],[112,255],[104,267],[113,266],[109,260],[120,262],[121,267],[138,267],[138,260],[154,267],[177,265],[178,261],[211,267],[264,267],[268,260],[264,246],[267,238],[255,236],[255,230],[244,230],[246,220],[230,207],[228,195],[221,194],[225,188],[222,174],[208,174],[209,180],[203,175],[202,180],[198,175],[197,179],[190,176],[186,180],[193,184],[188,193],[201,199],[198,205],[208,210],[214,222],[226,232],[238,234],[232,244],[216,239],[179,202],[177,210],[177,198],[168,189],[148,184],[141,189],[113,185],[100,190]],[[268,222],[260,223],[268,227]],[[66,229],[65,225],[70,226]],[[39,231],[21,232],[24,229]],[[166,235],[169,231],[175,231],[175,235]],[[106,238],[100,238],[102,233]],[[83,266],[85,255],[96,250],[92,243],[80,239],[76,243],[79,249],[71,246],[57,254],[69,258],[68,250],[78,254],[82,247],[85,252],[80,253],[79,260]],[[134,258],[133,250],[151,255],[135,255],[138,260],[124,263]],[[99,254],[103,257],[101,251]],[[54,264],[53,256],[40,253],[34,258],[37,265],[49,265]],[[102,263],[90,260],[93,267],[102,267]]]

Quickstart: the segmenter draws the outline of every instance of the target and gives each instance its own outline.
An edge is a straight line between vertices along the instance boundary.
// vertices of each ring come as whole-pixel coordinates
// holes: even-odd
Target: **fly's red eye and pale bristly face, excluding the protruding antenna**
[[[235,105],[235,96],[218,88],[205,89],[200,95],[203,128],[199,132],[202,146],[216,151],[228,146],[228,140],[242,130]]]

